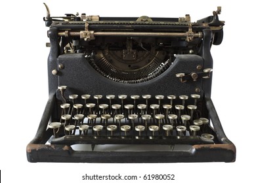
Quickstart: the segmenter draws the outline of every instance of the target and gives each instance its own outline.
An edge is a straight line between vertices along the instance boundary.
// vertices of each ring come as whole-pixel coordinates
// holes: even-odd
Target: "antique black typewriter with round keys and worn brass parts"
[[[212,16],[44,18],[49,101],[30,162],[199,162],[236,159],[211,101]]]

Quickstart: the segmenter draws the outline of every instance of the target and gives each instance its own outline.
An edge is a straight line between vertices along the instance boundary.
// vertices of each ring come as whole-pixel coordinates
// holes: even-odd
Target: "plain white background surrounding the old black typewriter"
[[[253,87],[256,26],[252,2],[45,1],[51,16],[76,12],[154,17],[190,14],[192,22],[211,15],[217,6],[222,6],[219,18],[226,22],[223,43],[211,49],[214,61],[212,99],[226,136],[236,144],[236,162],[136,164],[28,163],[26,145],[37,131],[48,99],[49,48],[45,47],[45,42],[49,39],[48,27],[43,22],[46,10],[43,1],[1,2],[1,182],[85,182],[81,180],[85,173],[175,174],[173,182],[252,182],[256,163]]]

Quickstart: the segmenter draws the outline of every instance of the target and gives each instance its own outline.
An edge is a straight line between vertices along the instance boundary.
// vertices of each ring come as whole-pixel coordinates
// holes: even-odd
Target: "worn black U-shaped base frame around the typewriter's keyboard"
[[[30,162],[79,162],[79,163],[175,163],[175,162],[233,162],[236,159],[236,147],[224,135],[221,122],[211,99],[205,99],[209,117],[213,123],[219,144],[196,144],[190,150],[175,151],[76,151],[67,144],[45,144],[51,137],[45,131],[51,110],[56,101],[55,94],[50,95],[43,118],[35,138],[27,146],[27,158]]]

